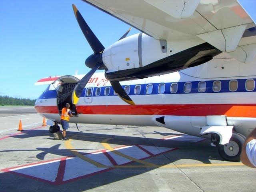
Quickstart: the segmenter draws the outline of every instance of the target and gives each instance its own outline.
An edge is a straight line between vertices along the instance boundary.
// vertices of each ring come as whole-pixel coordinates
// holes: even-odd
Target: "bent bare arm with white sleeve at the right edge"
[[[256,168],[256,128],[246,138],[240,159],[246,166]]]

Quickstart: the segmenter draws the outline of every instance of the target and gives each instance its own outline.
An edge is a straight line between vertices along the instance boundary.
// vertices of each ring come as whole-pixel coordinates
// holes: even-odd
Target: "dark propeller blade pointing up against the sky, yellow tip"
[[[80,12],[77,10],[76,6],[74,4],[72,4],[72,6],[73,6],[74,14],[76,16],[76,20],[86,38],[86,40],[90,44],[93,52],[94,53],[102,52],[102,50],[105,49],[104,46],[101,44],[101,42],[98,40],[98,38],[94,35],[94,33],[92,32],[90,27],[87,25],[84,18],[80,14]]]

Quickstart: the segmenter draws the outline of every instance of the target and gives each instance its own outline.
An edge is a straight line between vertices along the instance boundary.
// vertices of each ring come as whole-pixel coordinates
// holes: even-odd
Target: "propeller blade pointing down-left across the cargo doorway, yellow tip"
[[[92,70],[90,70],[78,83],[76,84],[73,92],[72,92],[72,103],[77,104],[79,97],[82,94],[87,82],[90,80],[91,76],[94,72],[101,66],[101,63],[98,63]]]

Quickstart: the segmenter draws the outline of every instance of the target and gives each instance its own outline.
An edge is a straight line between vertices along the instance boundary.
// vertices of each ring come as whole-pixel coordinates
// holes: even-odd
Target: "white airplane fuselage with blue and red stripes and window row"
[[[120,82],[127,86],[125,90],[136,106],[114,94],[104,73],[96,73],[76,104],[78,116],[70,122],[158,125],[200,136],[206,116],[225,115],[228,125],[247,136],[256,124],[254,62],[242,64],[220,54],[210,62],[179,72]],[[44,92],[35,108],[40,115],[60,121],[55,89]],[[161,116],[166,117],[164,125],[155,120]]]

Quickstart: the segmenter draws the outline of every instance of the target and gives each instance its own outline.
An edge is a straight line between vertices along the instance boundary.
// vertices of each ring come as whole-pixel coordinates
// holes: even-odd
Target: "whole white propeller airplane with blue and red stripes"
[[[126,37],[129,29],[104,48],[73,5],[94,52],[85,61],[92,70],[36,82],[49,84],[35,109],[50,128],[69,102],[70,122],[162,126],[211,138],[223,159],[240,161],[256,127],[256,24],[239,2],[84,2],[141,33]]]

